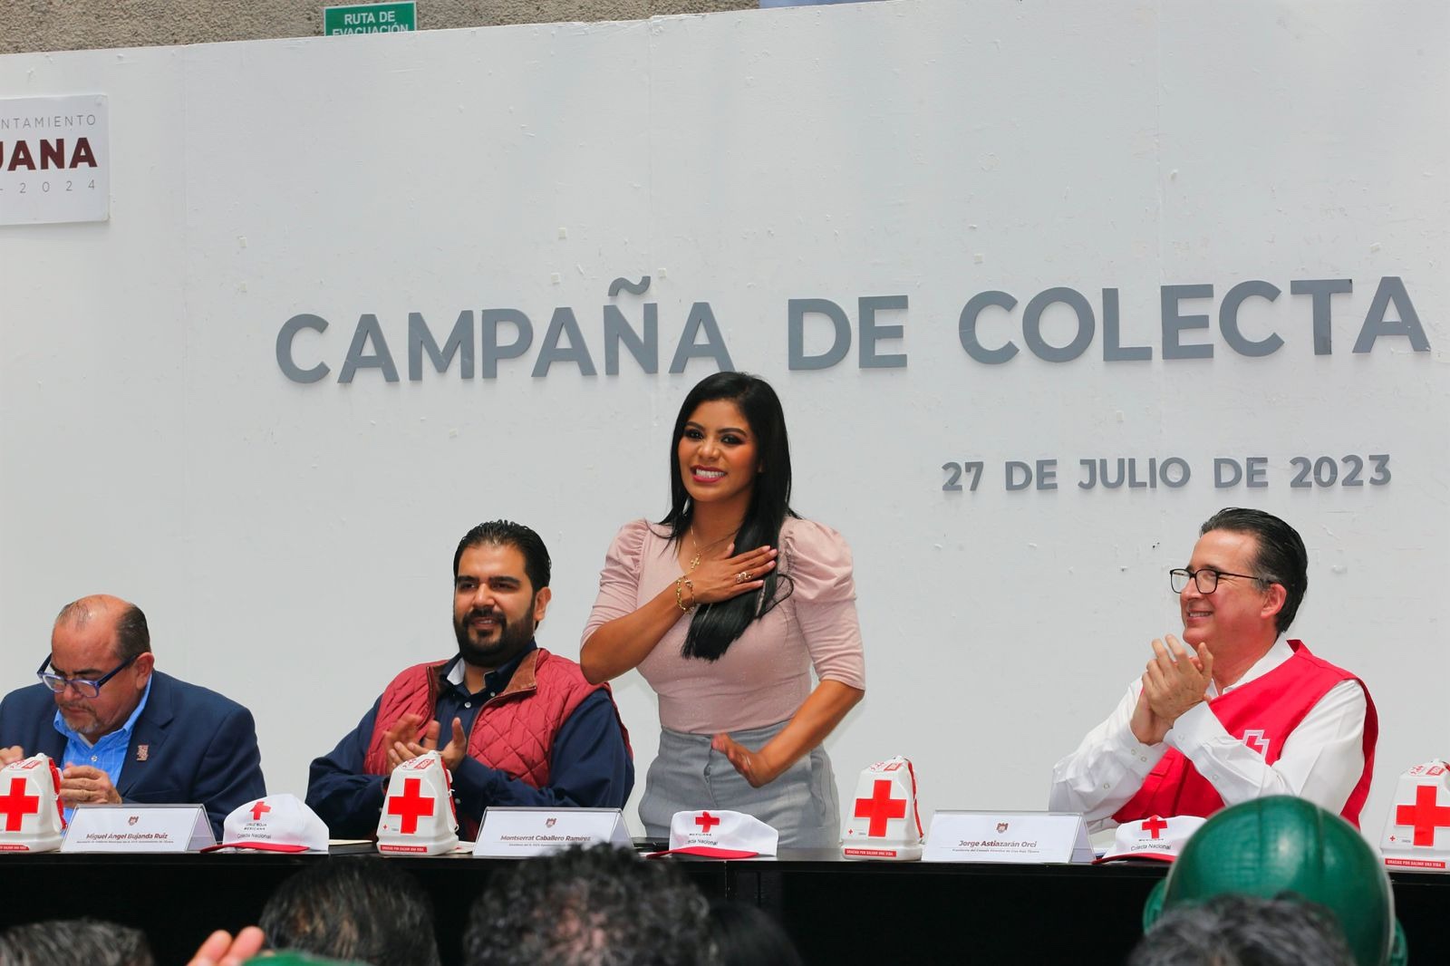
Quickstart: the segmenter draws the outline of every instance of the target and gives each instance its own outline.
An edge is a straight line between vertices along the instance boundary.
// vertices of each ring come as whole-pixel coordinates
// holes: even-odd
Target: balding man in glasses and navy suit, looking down
[[[155,670],[136,605],[65,605],[38,676],[0,701],[0,764],[39,751],[62,764],[67,818],[83,802],[199,804],[220,837],[232,809],[267,793],[252,714]]]

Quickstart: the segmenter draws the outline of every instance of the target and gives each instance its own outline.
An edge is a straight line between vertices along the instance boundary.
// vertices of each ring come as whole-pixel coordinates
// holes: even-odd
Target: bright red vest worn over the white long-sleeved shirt
[[[1369,796],[1369,780],[1375,773],[1375,741],[1379,737],[1379,715],[1370,701],[1364,682],[1348,672],[1320,660],[1309,653],[1304,641],[1289,641],[1293,657],[1263,677],[1235,688],[1208,702],[1209,711],[1222,722],[1224,730],[1240,741],[1246,734],[1262,748],[1266,764],[1273,764],[1283,753],[1283,743],[1299,727],[1309,709],[1335,685],[1353,680],[1364,689],[1364,770],[1354,790],[1350,792],[1340,812],[1356,828],[1359,814]],[[1143,788],[1114,814],[1114,820],[1131,822],[1148,815],[1202,815],[1208,817],[1224,806],[1224,799],[1182,753],[1169,748],[1167,754],[1143,779]]]

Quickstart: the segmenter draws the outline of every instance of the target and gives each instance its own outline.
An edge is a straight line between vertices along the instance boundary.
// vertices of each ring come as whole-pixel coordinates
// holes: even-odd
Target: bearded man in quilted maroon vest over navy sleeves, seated
[[[452,773],[467,838],[490,805],[624,808],[634,759],[608,685],[534,641],[548,582],[548,550],[528,527],[492,521],[464,535],[454,553],[458,654],[400,673],[312,763],[307,805],[334,837],[371,837],[387,776],[432,750]]]

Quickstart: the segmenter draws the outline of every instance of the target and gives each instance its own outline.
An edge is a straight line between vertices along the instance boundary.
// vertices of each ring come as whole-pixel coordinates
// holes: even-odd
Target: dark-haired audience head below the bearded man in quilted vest
[[[258,925],[274,950],[377,966],[438,966],[428,893],[387,862],[354,856],[309,866],[277,886]]]

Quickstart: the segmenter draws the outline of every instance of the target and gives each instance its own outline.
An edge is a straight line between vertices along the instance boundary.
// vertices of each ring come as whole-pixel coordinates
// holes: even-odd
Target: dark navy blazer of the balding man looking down
[[[55,730],[55,696],[45,685],[12,690],[0,701],[0,748],[13,744],[65,764],[65,735]],[[232,809],[267,793],[252,712],[152,670],[151,696],[130,730],[116,790],[128,802],[203,805],[220,841]]]

